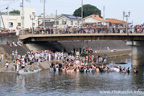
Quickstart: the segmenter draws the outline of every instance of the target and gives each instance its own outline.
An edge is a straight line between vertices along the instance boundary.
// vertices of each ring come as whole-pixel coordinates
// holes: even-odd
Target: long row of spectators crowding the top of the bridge
[[[93,24],[85,25],[85,26],[65,26],[64,28],[56,28],[56,27],[47,27],[47,28],[36,28],[34,30],[34,34],[75,34],[75,33],[144,33],[144,25],[97,25],[93,26]],[[25,34],[31,34],[31,29],[25,29]]]

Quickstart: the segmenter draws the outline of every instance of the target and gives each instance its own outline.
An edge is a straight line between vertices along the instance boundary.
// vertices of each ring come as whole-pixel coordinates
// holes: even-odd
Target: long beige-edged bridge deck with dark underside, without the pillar
[[[143,33],[77,33],[77,34],[28,34],[19,35],[20,40],[57,41],[57,40],[144,40]]]

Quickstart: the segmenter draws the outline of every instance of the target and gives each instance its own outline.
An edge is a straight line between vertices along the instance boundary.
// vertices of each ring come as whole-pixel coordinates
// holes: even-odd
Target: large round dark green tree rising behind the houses
[[[92,14],[97,14],[100,17],[102,17],[101,16],[101,10],[99,10],[96,6],[93,6],[90,4],[83,5],[83,17],[87,17],[87,16],[92,15]],[[77,16],[77,17],[81,17],[81,7],[76,9],[74,11],[73,15]]]

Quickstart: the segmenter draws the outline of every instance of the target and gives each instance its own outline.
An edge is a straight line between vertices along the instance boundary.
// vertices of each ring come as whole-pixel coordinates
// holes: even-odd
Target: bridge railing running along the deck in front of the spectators
[[[127,31],[126,31],[127,30]],[[27,34],[90,34],[90,33],[143,33],[143,29],[135,30],[135,28],[113,28],[113,27],[96,27],[96,28],[47,28],[25,30],[24,35]],[[20,34],[22,34],[20,32]]]

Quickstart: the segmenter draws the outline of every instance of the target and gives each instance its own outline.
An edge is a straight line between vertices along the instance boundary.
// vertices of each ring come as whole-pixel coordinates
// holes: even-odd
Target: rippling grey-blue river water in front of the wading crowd
[[[131,59],[122,67],[131,67]],[[108,66],[115,66],[116,60]],[[120,64],[117,64],[120,65]],[[144,96],[144,66],[139,73],[0,73],[0,96]]]

